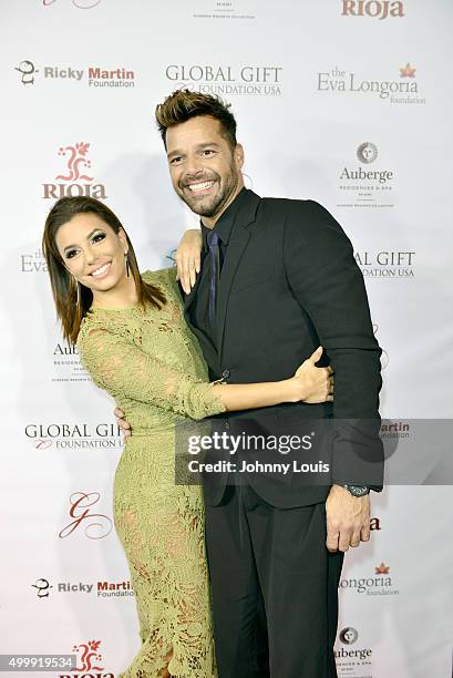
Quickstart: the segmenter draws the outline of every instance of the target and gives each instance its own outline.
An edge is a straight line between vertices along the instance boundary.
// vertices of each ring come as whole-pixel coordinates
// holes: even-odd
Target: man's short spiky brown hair
[[[156,121],[158,131],[166,148],[166,132],[168,127],[187,122],[192,117],[208,115],[220,123],[222,135],[231,146],[236,147],[236,120],[229,111],[230,104],[222,101],[219,96],[202,94],[191,90],[176,90],[156,106]]]

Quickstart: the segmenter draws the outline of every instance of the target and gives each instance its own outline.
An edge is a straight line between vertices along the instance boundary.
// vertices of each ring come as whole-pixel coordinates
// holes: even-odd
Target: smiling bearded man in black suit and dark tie
[[[228,106],[177,91],[156,119],[173,186],[202,219],[200,274],[185,312],[210,378],[284,379],[319,345],[336,378],[333,405],[287,404],[217,422],[240,432],[253,419],[278,434],[333,419],[325,435],[329,485],[260,473],[240,485],[225,475],[206,485],[219,677],[331,678],[343,553],[368,541],[369,490],[382,483],[373,442],[381,351],[363,279],[349,239],[323,207],[260,198],[244,187],[244,151]],[[194,261],[189,274],[194,280]]]

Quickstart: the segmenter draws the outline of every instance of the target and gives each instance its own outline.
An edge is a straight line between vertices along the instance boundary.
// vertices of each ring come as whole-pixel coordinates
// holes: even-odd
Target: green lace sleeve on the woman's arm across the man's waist
[[[166,366],[107,329],[90,329],[79,349],[94,383],[114,398],[148,402],[192,419],[225,411],[210,383]]]

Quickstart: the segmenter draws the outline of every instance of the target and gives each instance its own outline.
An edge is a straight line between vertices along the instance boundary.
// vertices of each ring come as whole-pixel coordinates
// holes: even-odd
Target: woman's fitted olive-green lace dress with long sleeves
[[[114,517],[131,568],[143,645],[122,676],[215,676],[204,506],[198,485],[175,484],[174,433],[183,418],[225,410],[185,323],[176,269],[147,271],[166,305],[90,311],[78,347],[93,381],[133,429],[114,480]],[[169,664],[168,664],[168,659]]]

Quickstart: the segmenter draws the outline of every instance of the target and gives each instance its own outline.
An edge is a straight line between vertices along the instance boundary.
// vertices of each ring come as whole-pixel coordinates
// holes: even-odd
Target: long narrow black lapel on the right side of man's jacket
[[[225,321],[228,309],[229,290],[231,288],[233,280],[235,279],[237,267],[243,258],[244,250],[247,247],[248,240],[250,239],[250,233],[248,232],[247,227],[255,222],[259,201],[260,198],[258,195],[256,195],[256,193],[253,191],[247,192],[247,201],[244,205],[241,205],[239,214],[236,216],[233,225],[227,255],[222,267],[217,300],[217,347],[220,362],[222,350],[224,347]]]

